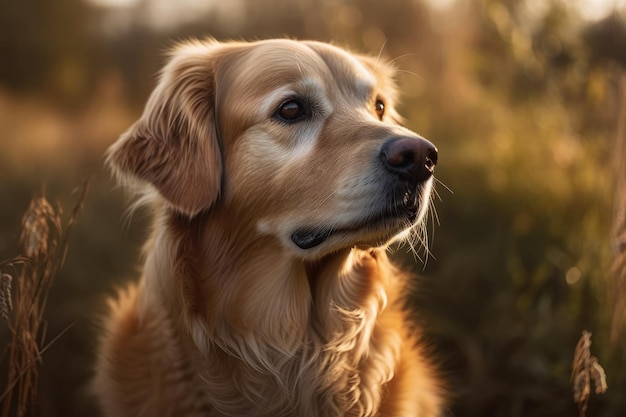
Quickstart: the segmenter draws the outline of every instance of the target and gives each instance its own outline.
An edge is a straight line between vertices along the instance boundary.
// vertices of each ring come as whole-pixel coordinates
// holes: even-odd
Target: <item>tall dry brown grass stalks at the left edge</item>
[[[65,332],[48,340],[44,311],[54,278],[65,262],[68,237],[87,189],[85,182],[65,221],[60,204],[50,204],[43,192],[33,198],[22,218],[22,254],[0,262],[0,315],[11,334],[2,356],[8,358],[8,376],[6,385],[3,384],[6,388],[0,393],[2,417],[33,413],[37,365],[48,347]]]

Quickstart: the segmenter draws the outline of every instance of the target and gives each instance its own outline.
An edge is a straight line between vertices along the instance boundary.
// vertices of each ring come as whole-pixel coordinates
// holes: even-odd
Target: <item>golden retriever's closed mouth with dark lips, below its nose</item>
[[[361,232],[371,234],[379,232],[381,242],[390,239],[397,233],[413,225],[420,214],[420,193],[407,191],[402,198],[380,210],[373,211],[362,220],[345,225],[304,227],[291,234],[291,241],[300,249],[312,249],[336,235],[358,235]],[[354,244],[359,243],[356,239]]]

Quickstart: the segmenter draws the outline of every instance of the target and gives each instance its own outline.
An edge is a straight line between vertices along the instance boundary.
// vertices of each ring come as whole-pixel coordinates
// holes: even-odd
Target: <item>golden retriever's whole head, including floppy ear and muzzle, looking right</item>
[[[109,160],[177,211],[227,213],[299,257],[380,246],[424,217],[437,162],[398,124],[392,76],[317,42],[187,44]]]

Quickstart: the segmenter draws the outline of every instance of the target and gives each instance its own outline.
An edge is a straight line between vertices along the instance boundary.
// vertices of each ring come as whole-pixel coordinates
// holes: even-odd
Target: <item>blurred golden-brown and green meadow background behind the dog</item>
[[[449,415],[576,416],[574,347],[626,416],[624,311],[611,270],[624,0],[23,0],[0,3],[0,259],[42,189],[91,183],[48,301],[36,416],[98,416],[97,317],[132,279],[147,215],[103,153],[139,116],[175,41],[313,38],[392,59],[401,113],[439,148],[438,222],[413,304],[454,394]],[[623,118],[624,116],[622,116]],[[624,155],[626,156],[626,155]],[[424,257],[423,257],[424,258]],[[623,289],[622,289],[623,290]],[[619,324],[620,320],[617,320]],[[8,341],[0,322],[0,348]],[[1,357],[0,357],[1,358]],[[0,391],[5,379],[0,377]]]

